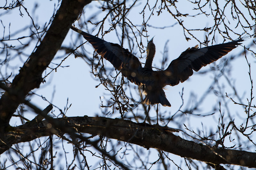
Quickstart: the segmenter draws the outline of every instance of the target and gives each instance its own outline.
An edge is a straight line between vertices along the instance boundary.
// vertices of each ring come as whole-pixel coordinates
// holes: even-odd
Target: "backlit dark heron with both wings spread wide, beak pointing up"
[[[180,82],[183,83],[192,76],[193,70],[198,71],[203,66],[220,59],[244,41],[238,39],[204,48],[198,48],[196,45],[182,52],[166,70],[154,71],[152,70],[152,62],[156,54],[154,37],[148,42],[146,63],[142,67],[139,59],[119,44],[104,41],[74,26],[71,29],[82,34],[101,57],[108,60],[117,70],[121,70],[121,73],[129,81],[138,85],[140,95],[145,95],[141,103],[149,106],[160,103],[163,106],[171,107],[163,90],[166,85],[174,86]]]

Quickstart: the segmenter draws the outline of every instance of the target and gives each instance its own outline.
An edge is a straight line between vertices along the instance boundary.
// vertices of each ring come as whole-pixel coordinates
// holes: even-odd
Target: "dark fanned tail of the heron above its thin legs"
[[[154,105],[158,103],[161,103],[163,106],[171,107],[171,104],[166,99],[163,89],[150,90],[149,92],[147,92],[145,99],[142,101],[142,104],[147,104],[147,105],[149,104]]]

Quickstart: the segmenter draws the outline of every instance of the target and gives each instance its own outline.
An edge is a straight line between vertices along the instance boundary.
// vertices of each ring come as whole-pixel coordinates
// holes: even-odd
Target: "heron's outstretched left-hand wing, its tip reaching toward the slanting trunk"
[[[71,27],[72,30],[80,33],[90,42],[95,48],[95,51],[103,58],[108,60],[117,70],[121,70],[122,74],[132,83],[140,85],[139,71],[142,66],[139,59],[134,56],[128,49],[122,48],[119,44],[104,41],[91,34],[85,33],[76,27]]]

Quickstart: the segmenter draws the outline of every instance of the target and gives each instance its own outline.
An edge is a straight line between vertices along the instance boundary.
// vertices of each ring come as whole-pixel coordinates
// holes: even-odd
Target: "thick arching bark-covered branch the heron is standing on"
[[[53,122],[56,122],[56,125],[62,125],[62,127],[58,128],[61,133],[68,132],[68,129],[74,129],[71,127],[75,127],[77,131],[82,133],[92,135],[101,134],[108,138],[137,144],[145,148],[157,148],[181,157],[196,159],[211,164],[233,164],[256,167],[256,153],[197,144],[171,133],[164,133],[152,127],[143,127],[141,124],[128,120],[84,116],[58,118],[53,119]],[[40,128],[38,129],[38,127]],[[38,137],[48,136],[50,133],[58,132],[47,127],[51,127],[47,121],[42,121],[30,129],[24,128],[24,125],[19,126],[17,129],[23,130],[24,134],[19,135],[20,137],[16,134],[16,141],[12,141],[12,144],[31,141]],[[0,144],[0,147],[2,148],[0,153],[8,149],[4,149],[4,144]]]

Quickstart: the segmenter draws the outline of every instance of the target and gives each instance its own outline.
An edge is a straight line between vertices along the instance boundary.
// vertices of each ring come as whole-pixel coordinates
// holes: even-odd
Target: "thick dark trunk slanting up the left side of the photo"
[[[16,111],[29,91],[39,88],[42,73],[60,49],[72,23],[77,19],[84,5],[92,0],[63,0],[44,39],[35,53],[29,56],[27,63],[20,69],[20,73],[12,81],[10,92],[5,92],[0,99],[0,129],[1,138],[12,114]]]

